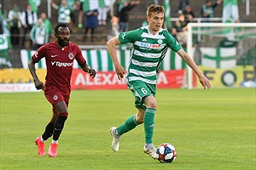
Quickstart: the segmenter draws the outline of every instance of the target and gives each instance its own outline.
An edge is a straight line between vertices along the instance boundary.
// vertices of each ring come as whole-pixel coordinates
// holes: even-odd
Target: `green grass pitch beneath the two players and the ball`
[[[143,153],[143,125],[111,150],[109,127],[136,113],[128,89],[73,91],[55,158],[33,143],[51,116],[43,92],[0,96],[1,169],[255,169],[255,88],[158,89],[154,144],[176,147],[171,164]]]

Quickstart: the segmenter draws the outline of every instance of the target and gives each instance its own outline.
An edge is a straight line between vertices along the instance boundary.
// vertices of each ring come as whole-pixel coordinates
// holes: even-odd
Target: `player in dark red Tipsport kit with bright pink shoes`
[[[55,26],[55,37],[55,42],[44,44],[37,53],[32,55],[32,59],[28,63],[35,87],[38,90],[44,90],[45,98],[52,105],[53,111],[44,133],[35,140],[39,156],[45,155],[44,142],[51,136],[53,139],[48,154],[52,157],[57,156],[58,139],[68,115],[73,60],[76,59],[82,70],[89,73],[90,77],[96,76],[96,71],[86,63],[79,46],[69,42],[70,29],[66,24],[60,23]],[[35,64],[42,58],[45,58],[47,66],[45,84],[38,79],[35,67]]]

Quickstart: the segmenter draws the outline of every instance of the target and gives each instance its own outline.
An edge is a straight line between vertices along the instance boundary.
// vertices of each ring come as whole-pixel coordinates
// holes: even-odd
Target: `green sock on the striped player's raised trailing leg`
[[[135,115],[133,115],[128,117],[126,121],[123,124],[121,124],[116,130],[119,133],[119,135],[122,135],[124,133],[131,131],[131,129],[137,127],[137,125],[139,124],[140,123],[138,123],[135,119]]]

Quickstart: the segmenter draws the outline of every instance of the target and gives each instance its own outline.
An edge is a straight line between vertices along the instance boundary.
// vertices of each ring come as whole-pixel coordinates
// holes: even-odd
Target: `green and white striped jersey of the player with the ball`
[[[152,35],[148,26],[119,33],[119,42],[132,43],[127,82],[140,80],[156,84],[160,64],[166,56],[167,49],[171,48],[177,52],[182,48],[165,29],[161,28],[158,34]]]

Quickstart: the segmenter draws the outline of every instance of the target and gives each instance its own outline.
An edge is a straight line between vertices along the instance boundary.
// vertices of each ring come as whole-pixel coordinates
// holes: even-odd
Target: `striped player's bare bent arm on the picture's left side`
[[[120,44],[121,43],[119,42],[119,37],[113,37],[107,42],[108,53],[113,61],[115,72],[119,80],[123,78],[125,75],[125,68],[122,65],[120,65],[119,59],[117,58],[117,55],[116,55],[116,46]]]

